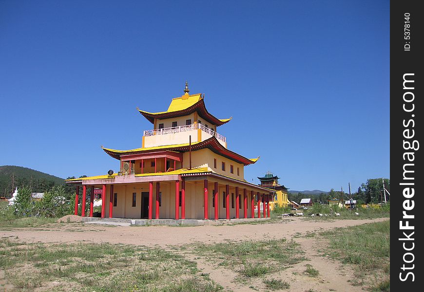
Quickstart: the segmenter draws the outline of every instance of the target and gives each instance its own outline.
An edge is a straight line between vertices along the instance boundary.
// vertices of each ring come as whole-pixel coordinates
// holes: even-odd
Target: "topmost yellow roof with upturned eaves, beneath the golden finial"
[[[210,114],[208,110],[206,110],[205,102],[201,93],[193,95],[184,94],[180,97],[173,98],[167,111],[148,112],[140,110],[138,108],[137,110],[152,124],[154,123],[154,118],[163,120],[175,117],[182,117],[192,114],[195,111],[197,111],[198,115],[203,120],[208,121],[209,123],[216,126],[224,125],[225,123],[228,123],[231,120],[231,118],[218,119],[212,114]]]

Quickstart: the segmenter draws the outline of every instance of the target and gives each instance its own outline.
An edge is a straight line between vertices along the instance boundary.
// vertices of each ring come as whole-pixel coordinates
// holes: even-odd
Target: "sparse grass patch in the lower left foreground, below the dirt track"
[[[22,266],[26,277],[19,273]],[[73,291],[221,290],[208,275],[197,276],[196,262],[184,256],[123,244],[22,244],[1,238],[0,267],[17,291],[44,291],[51,282],[66,283]]]

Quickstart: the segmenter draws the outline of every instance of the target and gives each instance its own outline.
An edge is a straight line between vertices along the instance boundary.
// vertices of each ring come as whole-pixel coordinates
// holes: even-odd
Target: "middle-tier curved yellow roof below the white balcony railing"
[[[175,151],[175,152],[188,152],[190,149],[189,143],[186,144],[177,144],[177,145],[167,145],[167,146],[155,146],[155,147],[145,147],[145,148],[136,148],[131,150],[116,150],[116,149],[109,149],[104,148],[102,146],[102,149],[112,156],[113,158],[116,158],[120,160],[121,156],[124,155],[131,155],[131,154],[141,154],[141,153],[152,153],[157,151]],[[244,165],[254,164],[256,161],[258,161],[258,158],[249,159],[244,156],[241,156],[240,154],[237,154],[224,146],[222,146],[218,140],[214,136],[211,138],[202,141],[202,142],[193,142],[192,143],[192,151],[200,150],[208,148],[211,151],[222,155],[224,157],[227,157],[228,159],[231,159],[232,161],[242,163]]]

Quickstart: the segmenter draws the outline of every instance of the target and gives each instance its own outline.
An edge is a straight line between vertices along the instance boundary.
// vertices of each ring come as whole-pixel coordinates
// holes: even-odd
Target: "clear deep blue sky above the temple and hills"
[[[0,165],[117,171],[188,80],[247,181],[389,177],[389,1],[3,0],[0,80]]]

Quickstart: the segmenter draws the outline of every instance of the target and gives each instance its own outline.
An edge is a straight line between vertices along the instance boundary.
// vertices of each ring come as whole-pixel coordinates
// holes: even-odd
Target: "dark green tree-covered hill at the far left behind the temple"
[[[28,167],[16,166],[16,165],[3,165],[0,166],[0,195],[10,195],[11,189],[11,177],[15,177],[15,185],[19,186],[19,182],[27,181],[31,179],[33,181],[51,181],[55,184],[65,184],[65,180],[48,173],[44,173],[38,170],[34,170]]]

